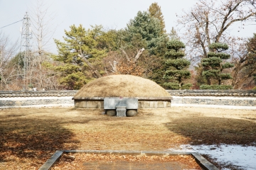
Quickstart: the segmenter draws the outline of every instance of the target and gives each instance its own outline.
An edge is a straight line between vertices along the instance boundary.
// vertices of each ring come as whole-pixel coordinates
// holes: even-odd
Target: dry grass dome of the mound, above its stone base
[[[88,97],[171,97],[154,81],[132,75],[112,75],[95,79],[78,91],[74,98]]]

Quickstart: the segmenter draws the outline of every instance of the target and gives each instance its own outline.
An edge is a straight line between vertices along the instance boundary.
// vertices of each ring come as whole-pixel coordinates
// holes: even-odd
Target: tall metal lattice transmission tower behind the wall
[[[20,57],[18,57],[19,66],[23,66],[23,68],[20,68],[20,75],[23,79],[23,90],[28,87],[28,70],[31,65],[31,39],[31,20],[28,16],[28,12],[26,12],[21,27]]]

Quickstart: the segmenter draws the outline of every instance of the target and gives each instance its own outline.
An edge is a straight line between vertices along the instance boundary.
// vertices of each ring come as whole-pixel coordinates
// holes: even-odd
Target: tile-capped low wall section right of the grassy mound
[[[171,106],[256,110],[256,91],[177,90],[168,92],[174,98]]]

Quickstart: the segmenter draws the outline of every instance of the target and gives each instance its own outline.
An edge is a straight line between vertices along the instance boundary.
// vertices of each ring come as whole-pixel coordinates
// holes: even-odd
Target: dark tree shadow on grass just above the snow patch
[[[192,145],[256,146],[256,122],[252,120],[187,117],[165,125],[172,132],[190,138]]]

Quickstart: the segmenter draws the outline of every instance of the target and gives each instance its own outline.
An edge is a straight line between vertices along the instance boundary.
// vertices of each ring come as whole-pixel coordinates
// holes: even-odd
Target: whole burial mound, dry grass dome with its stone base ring
[[[104,98],[138,98],[139,108],[171,107],[171,95],[149,79],[112,75],[95,79],[74,96],[76,108],[103,108]]]

